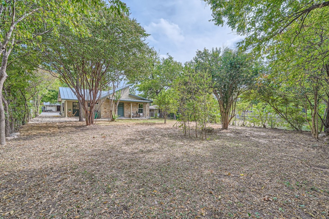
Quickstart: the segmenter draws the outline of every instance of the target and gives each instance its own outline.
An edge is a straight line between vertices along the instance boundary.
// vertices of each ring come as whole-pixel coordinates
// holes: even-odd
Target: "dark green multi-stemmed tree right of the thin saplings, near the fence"
[[[222,128],[227,129],[235,116],[235,104],[240,94],[250,89],[258,75],[258,63],[246,53],[224,48],[197,51],[194,68],[208,72],[213,92],[219,104]]]

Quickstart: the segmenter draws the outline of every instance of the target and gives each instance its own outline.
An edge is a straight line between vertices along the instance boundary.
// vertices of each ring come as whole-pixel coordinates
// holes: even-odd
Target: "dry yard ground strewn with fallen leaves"
[[[40,116],[0,146],[0,218],[329,218],[329,142]]]

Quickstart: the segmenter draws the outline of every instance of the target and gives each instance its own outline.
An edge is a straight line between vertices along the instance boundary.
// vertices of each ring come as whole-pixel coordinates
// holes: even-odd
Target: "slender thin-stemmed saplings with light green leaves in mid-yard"
[[[201,130],[199,138],[207,139],[206,124],[218,118],[217,103],[212,95],[211,75],[203,71],[195,71],[191,64],[187,64],[183,73],[173,83],[178,97],[180,127],[184,135],[190,136],[190,122],[195,123],[195,138],[197,129]]]

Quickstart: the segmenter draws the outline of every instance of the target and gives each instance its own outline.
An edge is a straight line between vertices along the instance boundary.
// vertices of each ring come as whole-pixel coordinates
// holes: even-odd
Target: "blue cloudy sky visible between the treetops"
[[[196,50],[229,46],[242,39],[229,27],[213,22],[209,6],[201,0],[126,0],[131,17],[136,18],[147,33],[151,47],[162,57],[169,53],[177,61],[190,61]]]

